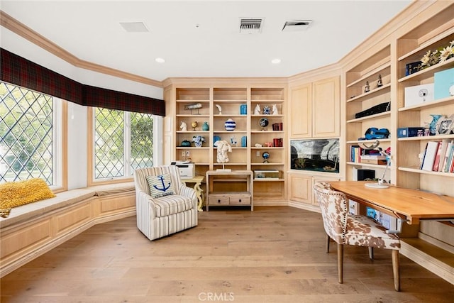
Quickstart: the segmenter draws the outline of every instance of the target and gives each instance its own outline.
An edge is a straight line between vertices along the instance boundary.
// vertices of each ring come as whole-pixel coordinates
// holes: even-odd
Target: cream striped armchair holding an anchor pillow
[[[170,174],[174,194],[152,197],[147,176]],[[186,187],[175,165],[139,168],[134,172],[138,229],[153,241],[197,225],[197,197]]]

